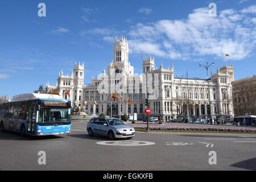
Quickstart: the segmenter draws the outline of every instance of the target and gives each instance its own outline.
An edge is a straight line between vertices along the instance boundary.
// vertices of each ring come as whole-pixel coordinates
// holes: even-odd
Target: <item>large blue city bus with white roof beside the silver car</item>
[[[71,133],[71,101],[52,94],[22,94],[0,102],[0,130],[26,135]]]

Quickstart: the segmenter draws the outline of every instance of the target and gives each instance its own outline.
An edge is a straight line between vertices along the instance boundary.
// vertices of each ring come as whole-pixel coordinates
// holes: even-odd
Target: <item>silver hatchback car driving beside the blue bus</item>
[[[115,138],[131,139],[135,136],[135,130],[131,126],[127,126],[117,118],[92,118],[90,119],[86,130],[90,137],[93,135],[102,135],[109,137],[111,140]]]

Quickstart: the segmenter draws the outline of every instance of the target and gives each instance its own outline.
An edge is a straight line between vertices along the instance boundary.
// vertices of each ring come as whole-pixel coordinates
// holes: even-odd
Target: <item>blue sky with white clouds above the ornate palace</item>
[[[40,17],[39,3],[46,16]],[[216,4],[216,16],[210,16]],[[71,75],[75,61],[85,64],[85,84],[113,60],[114,38],[125,35],[134,73],[143,56],[175,77],[205,78],[199,64],[213,71],[234,66],[236,80],[256,75],[256,3],[226,1],[0,1],[0,96],[33,93],[55,85],[58,73]]]

